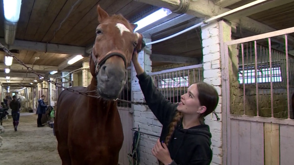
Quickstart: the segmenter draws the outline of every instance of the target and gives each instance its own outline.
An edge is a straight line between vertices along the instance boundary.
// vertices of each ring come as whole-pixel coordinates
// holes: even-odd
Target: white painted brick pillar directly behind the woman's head
[[[220,26],[222,26],[220,30]],[[224,21],[214,21],[201,27],[202,46],[203,46],[203,76],[204,82],[213,85],[219,95],[218,106],[215,109],[218,117],[217,121],[214,114],[205,117],[205,123],[209,125],[212,133],[212,165],[223,164],[223,137],[222,137],[222,75],[221,75],[221,53],[220,53],[220,35],[225,40],[231,39],[231,26]],[[222,34],[221,34],[222,33]]]

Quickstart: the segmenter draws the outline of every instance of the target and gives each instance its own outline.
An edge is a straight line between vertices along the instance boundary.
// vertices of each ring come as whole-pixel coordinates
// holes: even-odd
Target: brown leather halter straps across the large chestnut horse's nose
[[[95,54],[93,53],[93,51],[91,52],[91,56],[92,56],[92,59],[94,61],[94,64],[95,64],[95,75],[97,76],[98,75],[98,72],[99,72],[99,68],[105,63],[105,61],[107,59],[109,59],[110,57],[112,56],[118,56],[118,57],[121,57],[122,60],[124,61],[124,64],[125,64],[125,68],[127,69],[127,63],[126,63],[126,58],[124,56],[124,53],[120,50],[112,50],[110,52],[108,52],[105,56],[103,56],[102,58],[100,59],[97,59]]]

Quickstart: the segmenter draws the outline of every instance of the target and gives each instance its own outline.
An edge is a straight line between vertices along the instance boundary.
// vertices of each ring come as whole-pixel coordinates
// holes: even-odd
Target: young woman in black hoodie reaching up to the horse
[[[133,64],[145,100],[163,125],[152,154],[164,165],[209,165],[212,160],[211,133],[204,116],[214,111],[218,93],[204,82],[192,84],[179,105],[168,101],[154,86],[133,55]]]

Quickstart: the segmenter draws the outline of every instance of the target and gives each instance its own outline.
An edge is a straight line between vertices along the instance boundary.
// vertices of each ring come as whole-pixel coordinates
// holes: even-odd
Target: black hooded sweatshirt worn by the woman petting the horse
[[[164,141],[169,131],[168,125],[177,111],[177,105],[164,98],[146,72],[137,75],[137,78],[147,105],[163,125],[160,141]],[[184,129],[180,121],[168,143],[168,150],[173,160],[171,165],[209,165],[212,160],[210,138],[208,125],[201,124]]]

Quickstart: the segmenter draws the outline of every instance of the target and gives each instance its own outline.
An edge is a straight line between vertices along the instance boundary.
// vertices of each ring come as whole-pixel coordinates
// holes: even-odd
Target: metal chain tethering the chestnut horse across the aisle
[[[51,80],[48,79],[47,77],[42,76],[41,74],[35,72],[33,68],[26,66],[24,62],[22,62],[22,61],[21,61],[20,59],[18,59],[14,54],[12,54],[12,53],[11,53],[11,52],[10,52],[5,46],[3,46],[3,45],[1,44],[1,42],[0,42],[0,46],[3,48],[3,50],[4,50],[8,55],[10,55],[10,56],[13,57],[14,59],[16,59],[16,61],[17,61],[19,64],[21,64],[22,66],[26,67],[28,71],[30,71],[30,72],[36,74],[37,76],[39,76],[39,78],[41,78],[41,79],[47,81],[48,83],[52,83],[52,84],[54,84],[55,86],[57,86],[57,87],[61,87],[61,88],[63,88],[63,89],[66,89],[66,90],[68,90],[68,91],[70,91],[70,92],[72,92],[72,93],[81,94],[81,95],[84,95],[84,96],[86,96],[86,97],[100,98],[100,96],[93,96],[93,95],[90,95],[90,94],[89,94],[89,93],[92,93],[92,92],[96,92],[96,90],[87,91],[87,92],[80,92],[80,91],[78,91],[78,90],[74,90],[74,89],[66,88],[66,87],[62,86],[62,84],[59,84],[59,83],[54,82],[54,81],[51,81]],[[119,99],[119,98],[115,99],[115,101],[125,102],[125,103],[129,103],[129,104],[136,104],[136,105],[147,105],[146,102],[133,102],[133,101],[122,100],[122,99]],[[177,103],[175,103],[175,104],[177,104]],[[217,115],[215,112],[213,112],[213,113],[214,113],[214,115],[216,116],[217,120],[220,120],[220,118],[218,117],[218,115]]]

